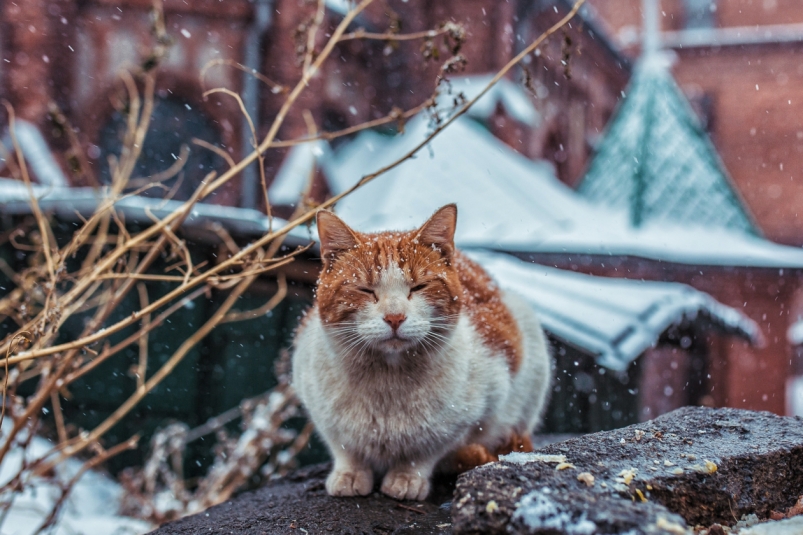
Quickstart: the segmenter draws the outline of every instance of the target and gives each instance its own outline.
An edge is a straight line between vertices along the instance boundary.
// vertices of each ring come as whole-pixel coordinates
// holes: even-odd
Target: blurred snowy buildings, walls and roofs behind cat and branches
[[[313,50],[353,7],[321,5]],[[120,228],[148,226],[144,207],[159,206],[165,191],[186,200],[210,170],[253,150],[242,110],[261,139],[300,78],[319,7],[164,0],[155,106],[133,173],[142,181],[129,191],[178,160],[183,168],[165,189],[140,195],[144,204],[121,204]],[[380,37],[339,42],[277,136],[316,139],[265,153],[275,224],[404,155],[571,7],[369,6],[348,31]],[[94,210],[92,192],[111,183],[109,158],[123,146],[131,106],[120,72],[147,63],[153,26],[146,0],[0,0],[0,98],[16,111],[19,146],[61,242]],[[458,246],[524,296],[550,335],[557,379],[544,433],[611,429],[689,404],[803,416],[801,54],[796,0],[588,0],[415,159],[335,210],[360,230],[412,228],[457,202]],[[450,58],[458,59],[444,69]],[[229,95],[204,96],[215,87],[239,94],[242,110]],[[10,236],[35,230],[8,163],[9,120],[0,109],[0,176],[8,179],[0,183],[0,296],[30,263]],[[181,234],[195,263],[214,265],[231,256],[227,240],[242,246],[266,231],[261,176],[251,164],[195,209]],[[299,227],[285,247],[314,238],[314,228]],[[258,308],[286,281],[282,302],[217,327],[105,440],[220,414],[236,429],[237,414],[227,411],[277,384],[274,363],[312,302],[319,266],[312,249],[260,277],[237,308]],[[145,286],[151,300],[173,287]],[[153,369],[225,295],[195,298],[154,331]],[[140,306],[132,293],[114,318]],[[0,320],[0,336],[19,326],[7,311]],[[71,318],[60,340],[76,338],[84,321]],[[139,354],[132,344],[64,393],[73,432],[96,426],[131,394]],[[288,425],[300,429],[302,418]],[[145,440],[109,466],[141,464],[147,452]],[[300,460],[325,457],[313,439]],[[198,436],[187,473],[202,473],[213,458],[209,436]]]

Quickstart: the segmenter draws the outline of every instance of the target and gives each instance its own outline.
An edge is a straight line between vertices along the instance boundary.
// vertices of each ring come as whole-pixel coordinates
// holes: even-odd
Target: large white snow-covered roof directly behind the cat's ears
[[[366,131],[322,162],[334,193],[405,155],[428,132],[425,116],[405,132]],[[742,231],[647,220],[592,204],[554,175],[461,117],[408,160],[340,201],[336,211],[366,231],[409,229],[456,202],[462,247],[509,252],[639,256],[692,265],[803,267],[803,249]]]

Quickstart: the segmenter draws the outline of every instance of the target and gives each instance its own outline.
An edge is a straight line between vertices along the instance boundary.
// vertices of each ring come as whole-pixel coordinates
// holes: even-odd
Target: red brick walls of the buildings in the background
[[[525,63],[542,123],[528,128],[500,112],[490,124],[515,150],[554,162],[558,176],[570,185],[582,176],[591,148],[627,83],[641,27],[641,0],[589,2],[593,10],[586,24],[574,24],[554,36]],[[159,71],[158,91],[180,97],[211,118],[223,146],[236,159],[247,150],[239,108],[228,97],[204,100],[199,72],[214,58],[246,61],[245,41],[255,19],[254,4],[246,0],[165,0],[164,4],[174,45]],[[42,129],[62,161],[68,145],[52,127],[51,102],[77,128],[84,148],[96,158],[92,160],[96,171],[105,165],[97,159],[100,132],[113,111],[118,70],[141,61],[152,41],[150,5],[150,0],[0,0],[0,96],[13,103],[20,117]],[[292,85],[300,77],[295,35],[316,3],[274,0],[270,5],[259,68],[271,79]],[[396,18],[403,32],[460,22],[467,30],[461,50],[468,60],[467,72],[485,73],[500,68],[565,13],[565,3],[555,5],[560,9],[553,9],[550,2],[512,0],[378,1],[361,15],[355,28],[381,32]],[[797,0],[720,0],[718,5],[715,19],[723,27],[803,23],[803,4]],[[683,28],[682,6],[681,0],[664,0],[665,31]],[[328,12],[324,26],[331,31],[339,20],[339,15]],[[803,82],[799,66],[803,39],[677,48],[676,52],[676,78],[708,120],[713,141],[758,226],[770,239],[803,244],[803,213],[799,214],[803,122],[798,119],[803,117],[803,97],[796,91]],[[564,56],[569,57],[568,66],[563,65]],[[439,62],[424,60],[420,42],[401,43],[390,54],[383,42],[342,43],[311,81],[279,138],[306,134],[303,110],[311,112],[319,129],[335,130],[383,116],[393,106],[417,106],[432,93],[438,68]],[[514,73],[512,79],[520,82],[523,71],[514,69]],[[206,87],[214,86],[239,92],[242,73],[213,67]],[[282,99],[262,86],[257,117],[261,133],[267,131]],[[5,120],[4,115],[0,119]],[[282,157],[281,151],[268,155],[269,177]],[[73,177],[75,184],[83,180]],[[318,189],[325,194],[320,184]],[[239,200],[240,184],[232,181],[215,202],[235,205]],[[800,286],[797,274],[634,258],[587,257],[578,262],[555,255],[537,259],[599,275],[685,282],[743,309],[762,326],[767,345],[753,349],[718,337],[707,342],[711,402],[784,412],[783,385],[791,354],[784,333],[798,312],[790,314],[790,309],[803,301],[795,293]]]

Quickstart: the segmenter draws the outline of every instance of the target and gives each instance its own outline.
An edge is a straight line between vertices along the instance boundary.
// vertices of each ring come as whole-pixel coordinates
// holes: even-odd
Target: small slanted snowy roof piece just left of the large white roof
[[[310,174],[323,158],[330,156],[329,144],[323,140],[294,145],[285,156],[276,178],[268,188],[272,204],[293,205],[301,199]]]

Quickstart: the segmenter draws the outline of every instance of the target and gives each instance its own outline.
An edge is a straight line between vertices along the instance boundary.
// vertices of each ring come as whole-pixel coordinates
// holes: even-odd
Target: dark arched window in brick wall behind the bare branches
[[[119,157],[125,134],[125,114],[116,111],[101,130],[98,142],[101,151],[100,179],[104,184],[111,183],[108,156],[113,154]],[[164,187],[148,188],[142,195],[164,197],[176,186],[177,181],[181,181],[172,198],[186,200],[210,171],[220,172],[225,168],[225,163],[220,156],[193,144],[192,138],[202,139],[217,146],[221,145],[218,130],[212,124],[211,119],[200,110],[175,97],[157,98],[148,134],[145,136],[145,144],[131,176],[132,183],[129,190],[141,187],[149,181],[149,178],[169,169],[176,163],[183,145],[189,149],[189,156],[181,171],[164,180],[162,182]],[[134,181],[134,179],[144,180]]]

